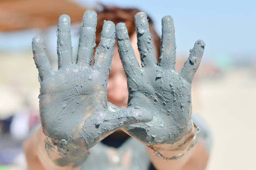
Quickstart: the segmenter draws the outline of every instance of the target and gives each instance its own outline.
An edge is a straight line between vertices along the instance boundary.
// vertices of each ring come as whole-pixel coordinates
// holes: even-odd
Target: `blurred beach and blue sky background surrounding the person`
[[[38,72],[31,41],[40,35],[57,69],[56,24],[71,17],[76,55],[86,9],[138,8],[150,16],[161,35],[161,18],[174,19],[177,68],[197,39],[206,43],[192,84],[193,112],[213,133],[208,170],[255,170],[256,2],[158,0],[1,0],[0,1],[0,170],[25,170],[22,141],[39,119]]]

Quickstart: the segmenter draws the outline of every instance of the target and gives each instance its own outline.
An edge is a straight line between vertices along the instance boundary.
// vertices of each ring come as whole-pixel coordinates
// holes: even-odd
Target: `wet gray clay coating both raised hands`
[[[142,68],[135,57],[124,23],[105,21],[95,63],[91,66],[95,44],[97,14],[87,10],[83,16],[77,63],[72,63],[70,17],[58,21],[58,70],[53,71],[40,37],[32,40],[34,60],[41,85],[39,108],[48,153],[57,147],[65,166],[78,166],[88,150],[112,132],[125,127],[145,144],[174,143],[191,119],[191,82],[199,67],[204,42],[196,41],[180,72],[175,70],[175,36],[170,16],[162,19],[160,63],[154,55],[147,16],[135,15]],[[129,100],[124,110],[107,102],[107,80],[117,37],[118,51],[127,75]],[[77,159],[78,158],[78,159]]]

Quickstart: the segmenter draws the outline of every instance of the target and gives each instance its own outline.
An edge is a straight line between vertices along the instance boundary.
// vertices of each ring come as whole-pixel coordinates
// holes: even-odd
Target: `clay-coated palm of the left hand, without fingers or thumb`
[[[45,133],[58,139],[75,137],[86,118],[103,112],[107,81],[100,75],[92,67],[71,64],[41,82],[40,113]]]

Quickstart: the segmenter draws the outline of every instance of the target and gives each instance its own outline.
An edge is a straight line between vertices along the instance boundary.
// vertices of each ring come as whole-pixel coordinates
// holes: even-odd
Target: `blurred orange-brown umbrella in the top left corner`
[[[82,21],[86,8],[67,0],[1,0],[0,31],[16,31],[56,25],[62,14],[72,23]]]

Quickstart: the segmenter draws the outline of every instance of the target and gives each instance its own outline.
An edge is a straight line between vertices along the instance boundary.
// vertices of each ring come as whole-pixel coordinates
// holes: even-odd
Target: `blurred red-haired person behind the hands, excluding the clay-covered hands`
[[[105,7],[97,12],[96,25],[96,44],[100,43],[100,33],[102,31],[104,20],[115,23],[125,23],[131,45],[133,49],[138,49],[136,25],[134,16],[139,12],[138,9],[123,9],[117,7]],[[148,17],[149,30],[152,34],[152,41],[154,42],[154,52],[157,62],[160,59],[160,37],[154,30],[153,22]],[[120,51],[120,50],[119,50]],[[95,52],[94,52],[95,53]],[[135,56],[141,67],[140,54],[135,50]],[[94,60],[94,59],[93,59]],[[94,61],[92,62],[94,63]],[[127,107],[128,101],[128,87],[127,78],[123,65],[119,58],[117,45],[114,48],[112,59],[112,67],[108,77],[107,84],[107,100],[121,109]],[[48,113],[52,114],[52,113]],[[72,117],[71,117],[72,118]],[[198,116],[192,116],[192,119],[200,128],[198,140],[195,147],[190,149],[182,158],[176,160],[166,161],[162,157],[154,155],[151,148],[148,148],[145,143],[139,143],[134,138],[131,138],[126,130],[117,130],[110,134],[96,146],[90,148],[90,154],[79,153],[74,156],[74,160],[62,159],[56,161],[60,157],[59,150],[52,152],[46,151],[48,148],[45,141],[45,135],[42,130],[42,125],[39,125],[33,131],[29,139],[24,143],[26,152],[28,168],[30,170],[44,170],[44,169],[179,169],[179,170],[203,170],[206,167],[209,150],[210,150],[210,134],[205,126],[204,121]],[[125,131],[125,132],[124,132]],[[195,133],[195,132],[194,132]],[[193,134],[194,136],[195,134]],[[134,137],[134,136],[132,136]],[[168,150],[162,151],[166,157],[172,157],[180,153],[184,153],[191,143],[191,136],[185,139],[186,147],[182,151]],[[64,141],[65,143],[65,141]],[[184,144],[183,143],[183,144]],[[64,144],[63,144],[64,145]],[[54,146],[53,146],[54,147]],[[166,147],[167,148],[167,147]],[[59,148],[58,148],[59,149]],[[153,148],[154,149],[154,148]],[[45,154],[47,152],[47,154]],[[72,152],[72,151],[71,151]],[[161,151],[160,151],[161,152]],[[52,154],[52,155],[51,155]],[[54,155],[55,154],[55,155]],[[66,153],[65,153],[66,154]],[[68,153],[67,153],[68,154]],[[57,156],[56,156],[57,155]],[[78,158],[80,157],[80,159]],[[54,159],[53,159],[54,158]],[[56,159],[55,159],[56,158]],[[75,160],[79,159],[79,161]],[[59,160],[59,159],[58,159]],[[54,162],[54,163],[53,163]],[[72,165],[72,166],[71,166]]]

